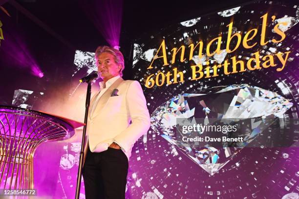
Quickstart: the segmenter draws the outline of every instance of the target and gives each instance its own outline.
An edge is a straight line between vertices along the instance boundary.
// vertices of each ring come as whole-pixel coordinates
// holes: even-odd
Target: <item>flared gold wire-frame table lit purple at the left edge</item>
[[[68,139],[84,123],[0,105],[0,189],[33,189],[33,157],[45,141]]]

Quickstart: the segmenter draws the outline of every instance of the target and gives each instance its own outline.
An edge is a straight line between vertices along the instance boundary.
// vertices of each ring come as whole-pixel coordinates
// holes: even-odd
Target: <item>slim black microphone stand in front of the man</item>
[[[83,160],[84,160],[85,136],[86,136],[88,110],[89,110],[90,96],[91,96],[91,81],[92,80],[86,81],[86,83],[88,84],[87,84],[87,92],[86,92],[86,100],[85,100],[85,118],[84,118],[85,125],[83,127],[83,134],[82,134],[82,144],[81,144],[80,161],[79,161],[77,186],[76,186],[76,199],[79,199],[80,196],[81,178],[82,178],[82,169],[83,169]]]

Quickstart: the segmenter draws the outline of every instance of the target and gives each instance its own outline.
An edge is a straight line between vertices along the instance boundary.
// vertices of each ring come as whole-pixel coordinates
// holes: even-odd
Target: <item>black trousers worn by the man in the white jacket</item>
[[[128,158],[121,149],[92,153],[83,167],[86,199],[125,199]]]

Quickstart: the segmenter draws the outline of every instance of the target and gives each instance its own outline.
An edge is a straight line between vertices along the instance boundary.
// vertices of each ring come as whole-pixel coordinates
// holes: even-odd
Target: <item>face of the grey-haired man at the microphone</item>
[[[100,54],[97,59],[99,76],[104,79],[110,79],[119,75],[121,65],[115,63],[114,56],[110,53],[104,52]]]

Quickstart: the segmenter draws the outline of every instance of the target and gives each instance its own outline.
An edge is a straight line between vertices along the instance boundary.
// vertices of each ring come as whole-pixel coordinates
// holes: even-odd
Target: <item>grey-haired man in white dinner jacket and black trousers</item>
[[[108,46],[95,52],[100,91],[90,101],[83,178],[86,199],[125,199],[128,159],[146,134],[149,111],[138,81],[123,80],[122,53]]]

